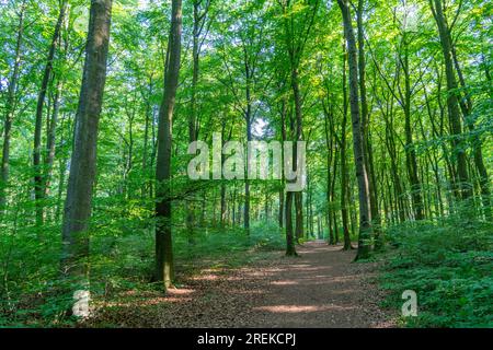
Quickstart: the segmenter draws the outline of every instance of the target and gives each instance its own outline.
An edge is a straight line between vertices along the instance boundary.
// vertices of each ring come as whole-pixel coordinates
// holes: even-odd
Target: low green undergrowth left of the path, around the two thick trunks
[[[93,218],[90,255],[93,300],[153,288],[151,205],[122,197],[95,200],[99,210]],[[46,224],[37,236],[33,225],[24,221],[19,225],[23,229],[0,235],[0,327],[72,326],[74,319],[66,316],[72,302],[65,292],[70,284],[58,270],[60,226]],[[174,238],[179,273],[194,273],[202,264],[239,267],[284,247],[282,231],[261,222],[253,224],[250,235],[241,229],[208,226],[196,229],[193,243],[185,230],[176,230]]]

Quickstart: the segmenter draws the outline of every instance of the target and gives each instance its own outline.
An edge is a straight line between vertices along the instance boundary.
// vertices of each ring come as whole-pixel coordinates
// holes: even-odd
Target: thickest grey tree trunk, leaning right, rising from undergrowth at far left
[[[89,219],[95,178],[98,129],[106,81],[111,12],[112,0],[91,1],[85,63],[62,222],[62,273],[74,278],[76,289],[85,291],[89,287]],[[77,295],[80,296],[74,293]],[[78,312],[73,311],[73,314],[78,315]]]

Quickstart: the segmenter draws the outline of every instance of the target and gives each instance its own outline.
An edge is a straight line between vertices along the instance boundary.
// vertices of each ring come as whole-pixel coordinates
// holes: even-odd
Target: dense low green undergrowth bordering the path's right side
[[[493,327],[493,223],[454,215],[390,228],[381,287],[400,310],[404,290],[417,294],[409,327]]]

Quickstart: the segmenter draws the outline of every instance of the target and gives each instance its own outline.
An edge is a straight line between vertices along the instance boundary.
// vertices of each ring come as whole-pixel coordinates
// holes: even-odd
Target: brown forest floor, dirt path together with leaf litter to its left
[[[168,291],[129,292],[94,322],[118,327],[391,327],[375,264],[323,241],[241,268],[208,268]],[[115,307],[112,307],[115,306]],[[99,319],[99,320],[98,320]],[[92,323],[92,322],[91,322]]]

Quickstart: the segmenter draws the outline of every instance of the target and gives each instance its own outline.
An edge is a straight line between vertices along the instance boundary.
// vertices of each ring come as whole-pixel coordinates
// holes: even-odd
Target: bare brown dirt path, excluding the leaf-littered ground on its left
[[[356,250],[323,241],[298,247],[299,258],[271,270],[272,280],[254,310],[270,327],[383,327],[381,293],[370,284],[375,265],[351,264]],[[287,262],[287,264],[286,264]],[[262,326],[262,324],[259,324]]]

